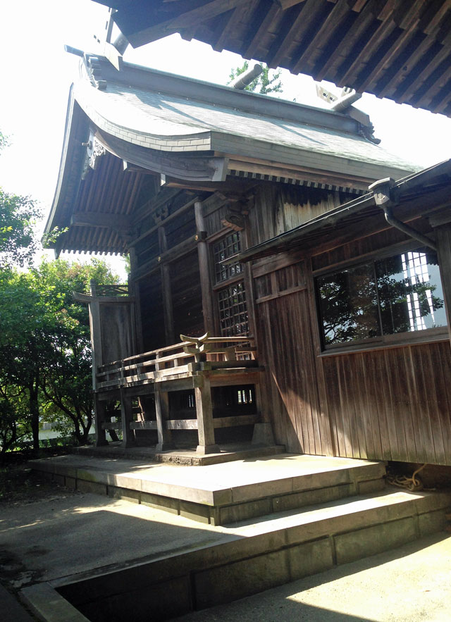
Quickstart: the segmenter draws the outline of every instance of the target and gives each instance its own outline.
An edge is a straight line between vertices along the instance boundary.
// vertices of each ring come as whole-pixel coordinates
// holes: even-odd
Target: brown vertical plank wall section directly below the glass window
[[[336,454],[451,464],[448,341],[323,359]]]

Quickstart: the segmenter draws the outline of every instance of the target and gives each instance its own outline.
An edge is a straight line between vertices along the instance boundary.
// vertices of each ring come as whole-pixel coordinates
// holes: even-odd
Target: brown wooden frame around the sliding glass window
[[[345,354],[346,352],[364,352],[373,349],[381,349],[387,347],[400,347],[408,346],[410,344],[421,344],[426,342],[436,342],[450,339],[448,325],[438,326],[435,328],[426,328],[425,330],[409,330],[404,332],[395,332],[388,335],[384,335],[382,332],[381,322],[381,305],[379,301],[378,287],[376,287],[376,296],[378,300],[378,320],[381,328],[381,335],[376,337],[367,337],[365,339],[350,340],[342,343],[326,344],[324,340],[324,327],[323,318],[321,316],[321,298],[319,294],[318,280],[319,278],[327,275],[333,275],[340,271],[347,270],[347,268],[353,268],[357,266],[363,266],[364,264],[371,263],[373,270],[375,269],[375,263],[378,260],[387,259],[388,257],[395,256],[396,254],[407,253],[409,251],[416,251],[419,249],[419,242],[416,240],[408,240],[402,244],[393,244],[390,247],[379,249],[377,251],[371,251],[370,253],[362,254],[353,259],[340,261],[334,263],[326,268],[319,268],[318,270],[312,270],[313,286],[314,286],[314,305],[317,326],[319,330],[319,341],[321,344],[320,356],[328,356],[333,354]],[[420,247],[421,248],[421,247]],[[438,263],[440,271],[440,285],[443,291],[443,280],[441,276],[440,263]]]

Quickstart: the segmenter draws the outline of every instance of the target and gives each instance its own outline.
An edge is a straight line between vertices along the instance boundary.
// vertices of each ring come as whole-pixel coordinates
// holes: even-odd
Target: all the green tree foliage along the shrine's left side
[[[0,132],[0,151],[8,139]],[[103,261],[43,261],[32,265],[39,210],[0,188],[0,454],[55,420],[77,442],[92,423],[89,316],[73,292],[89,281],[117,282]],[[26,268],[26,269],[25,269]]]

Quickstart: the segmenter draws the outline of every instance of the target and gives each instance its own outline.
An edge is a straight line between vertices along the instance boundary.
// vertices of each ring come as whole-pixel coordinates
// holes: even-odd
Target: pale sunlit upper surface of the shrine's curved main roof
[[[211,85],[211,89],[218,88],[223,89]],[[398,178],[419,170],[418,166],[402,161],[357,133],[161,92],[152,89],[151,79],[147,89],[109,80],[105,90],[80,80],[75,87],[75,99],[101,130],[126,142],[160,151],[213,150],[275,160],[271,152],[276,145],[280,163],[295,163],[293,157],[297,153],[299,163],[313,164],[320,170],[333,170],[330,156],[337,158],[337,170],[342,172],[358,174],[357,170],[352,171],[353,164],[357,168],[366,165],[393,169],[390,174]],[[291,102],[285,106],[292,108]],[[281,101],[282,113],[283,107]],[[299,106],[299,117],[301,113]],[[329,157],[322,160],[323,156]],[[373,175],[381,177],[383,173]]]

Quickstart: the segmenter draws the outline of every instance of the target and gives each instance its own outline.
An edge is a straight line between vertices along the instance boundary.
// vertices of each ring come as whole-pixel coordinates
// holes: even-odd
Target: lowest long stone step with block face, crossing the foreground
[[[164,620],[361,559],[443,529],[449,492],[383,492],[240,523],[120,570],[51,582],[92,622]],[[25,596],[32,601],[33,587]]]

